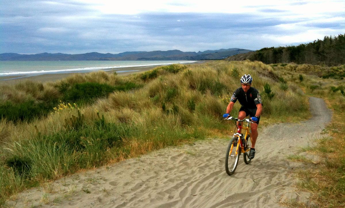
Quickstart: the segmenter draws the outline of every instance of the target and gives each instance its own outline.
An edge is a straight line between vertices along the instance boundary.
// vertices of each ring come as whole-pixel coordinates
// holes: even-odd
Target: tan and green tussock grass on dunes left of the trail
[[[257,61],[172,65],[126,77],[105,72],[76,74],[43,87],[33,85],[36,87],[23,92],[38,103],[44,103],[49,95],[54,98],[68,95],[73,87],[80,85],[117,87],[134,83],[136,87],[107,91],[103,97],[92,97],[90,102],[77,107],[60,103],[60,110],[45,117],[34,117],[30,122],[14,123],[2,119],[0,138],[6,143],[2,143],[4,148],[0,150],[3,161],[0,164],[3,176],[0,203],[27,187],[80,169],[106,165],[206,136],[225,136],[229,124],[221,116],[231,94],[240,87],[239,78],[243,74],[253,77],[253,87],[261,94],[266,83],[276,93],[272,99],[263,98],[260,123],[308,116],[307,97],[298,87],[292,89],[294,80],[286,75],[284,79],[289,88],[281,89],[279,78],[285,76],[283,72]],[[13,95],[17,93],[13,89],[1,90]],[[88,92],[88,96],[100,94]],[[77,97],[84,96],[82,90],[78,93]],[[6,100],[8,95],[1,98]],[[234,116],[239,107],[235,105]]]

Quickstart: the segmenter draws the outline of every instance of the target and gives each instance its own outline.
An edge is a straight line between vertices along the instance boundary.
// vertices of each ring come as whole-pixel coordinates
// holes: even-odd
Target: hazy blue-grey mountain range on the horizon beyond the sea
[[[180,50],[168,51],[131,51],[118,54],[112,53],[38,53],[18,54],[1,53],[1,61],[157,61],[157,60],[214,60],[225,59],[240,53],[247,53],[252,50],[229,48],[219,50],[206,50],[199,52],[183,52]]]

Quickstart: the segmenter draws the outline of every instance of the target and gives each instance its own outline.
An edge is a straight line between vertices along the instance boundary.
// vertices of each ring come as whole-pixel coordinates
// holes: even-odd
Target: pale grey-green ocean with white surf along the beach
[[[149,67],[191,62],[195,61],[0,61],[0,76],[35,76],[48,73],[91,72],[105,69]],[[125,71],[128,70],[117,72]]]

